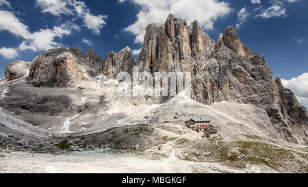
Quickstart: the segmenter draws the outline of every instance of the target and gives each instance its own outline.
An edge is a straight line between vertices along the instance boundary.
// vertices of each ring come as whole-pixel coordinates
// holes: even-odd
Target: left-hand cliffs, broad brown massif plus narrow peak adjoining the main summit
[[[34,58],[27,80],[34,86],[73,87],[87,79],[85,74],[96,77],[103,73],[108,78],[116,79],[121,71],[131,73],[135,63],[129,47],[118,53],[108,53],[105,63],[92,49],[84,55],[81,49],[62,47]]]

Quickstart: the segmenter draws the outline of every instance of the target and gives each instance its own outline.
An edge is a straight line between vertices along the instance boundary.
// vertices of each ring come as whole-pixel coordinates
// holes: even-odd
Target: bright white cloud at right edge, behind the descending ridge
[[[290,88],[296,95],[298,101],[308,106],[308,73],[292,78],[290,80],[281,79],[285,88]]]

